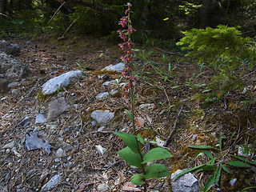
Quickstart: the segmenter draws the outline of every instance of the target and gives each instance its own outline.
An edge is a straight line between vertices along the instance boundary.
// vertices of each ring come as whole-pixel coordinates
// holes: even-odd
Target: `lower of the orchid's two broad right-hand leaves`
[[[163,178],[169,176],[169,171],[167,170],[166,166],[162,164],[152,164],[146,167],[146,174],[145,178]]]

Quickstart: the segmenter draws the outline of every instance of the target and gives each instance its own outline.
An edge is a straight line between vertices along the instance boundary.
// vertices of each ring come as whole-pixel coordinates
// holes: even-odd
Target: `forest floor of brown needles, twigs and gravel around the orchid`
[[[98,75],[102,74],[99,70],[105,66],[121,62],[123,53],[118,45],[89,36],[62,40],[49,36],[33,40],[6,40],[22,46],[21,53],[15,58],[26,63],[32,73],[22,79],[18,94],[9,91],[1,95],[6,99],[0,102],[0,191],[38,191],[56,174],[62,175],[62,181],[52,191],[100,191],[100,186],[107,188],[102,191],[131,189],[128,187],[125,190],[123,186],[129,184],[130,177],[137,170],[118,157],[116,152],[124,144],[113,134],[118,130],[131,133],[130,121],[124,112],[124,109],[130,110],[130,102],[119,94],[104,99],[95,98],[97,94],[111,89],[102,86],[106,80],[98,78]],[[214,185],[210,191],[241,191],[256,186],[254,167],[238,168],[226,163],[238,160],[230,154],[237,155],[239,146],[247,146],[250,150],[247,158],[255,160],[256,74],[248,72],[243,76],[246,92],[230,91],[217,102],[206,103],[202,98],[194,98],[194,95],[206,89],[203,84],[210,82],[214,74],[212,70],[202,66],[200,69],[198,64],[185,62],[179,54],[156,47],[138,46],[136,49],[141,50],[152,65],[137,55],[134,63],[139,78],[136,82],[135,106],[143,103],[154,103],[155,106],[154,110],[136,107],[135,116],[145,120],[137,127],[138,133],[151,141],[155,141],[156,136],[164,142],[168,138],[166,149],[174,157],[160,162],[168,167],[170,174],[208,162],[210,158],[202,150],[187,147],[208,145],[214,147],[211,154],[217,158],[215,166],[222,164],[230,170],[230,174],[222,170],[219,186]],[[77,63],[85,70],[86,78],[63,91],[70,104],[76,107],[62,114],[56,122],[34,125],[35,116],[41,110],[46,113],[50,100],[56,97],[52,95],[37,101],[42,84],[50,79],[50,74],[58,76],[78,70],[80,67]],[[121,78],[122,74],[110,73],[108,77],[107,80],[112,80]],[[250,105],[246,105],[246,101],[250,101]],[[90,112],[97,109],[108,109],[115,113],[114,119],[103,131],[91,124]],[[33,118],[30,130],[38,126],[42,138],[50,140],[54,146],[52,153],[26,150],[23,144],[29,130],[17,126],[26,116]],[[49,128],[53,123],[56,125],[54,130]],[[78,131],[76,126],[79,127]],[[219,143],[220,138],[222,143]],[[18,154],[2,150],[2,146],[11,141],[20,144],[16,146]],[[63,142],[67,147],[62,146]],[[219,144],[222,146],[221,152],[217,150]],[[105,154],[97,152],[97,145],[106,148]],[[66,149],[66,154],[56,161],[56,150],[60,147],[71,150]],[[47,173],[45,177],[43,173]],[[203,188],[213,173],[213,170],[198,171],[194,176]],[[230,180],[233,178],[237,182],[231,186]],[[148,189],[171,191],[170,178],[150,180]]]

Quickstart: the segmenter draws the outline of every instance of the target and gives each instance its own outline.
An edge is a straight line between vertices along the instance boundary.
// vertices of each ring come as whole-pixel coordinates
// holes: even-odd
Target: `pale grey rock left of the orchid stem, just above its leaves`
[[[90,117],[93,118],[98,124],[110,122],[114,118],[114,113],[110,110],[94,110]]]

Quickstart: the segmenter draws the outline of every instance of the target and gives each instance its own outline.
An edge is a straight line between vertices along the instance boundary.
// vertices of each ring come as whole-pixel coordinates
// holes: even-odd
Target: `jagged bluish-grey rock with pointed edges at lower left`
[[[50,148],[53,147],[49,144],[49,141],[43,142],[42,139],[38,138],[38,134],[34,131],[26,134],[25,146],[27,150],[38,150],[42,148],[46,150],[47,154],[50,154]]]

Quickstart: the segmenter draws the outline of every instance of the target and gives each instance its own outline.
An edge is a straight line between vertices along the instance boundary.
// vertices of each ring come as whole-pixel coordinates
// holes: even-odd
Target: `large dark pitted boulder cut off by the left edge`
[[[21,79],[29,73],[31,71],[24,63],[18,62],[10,55],[0,51],[0,78]]]

